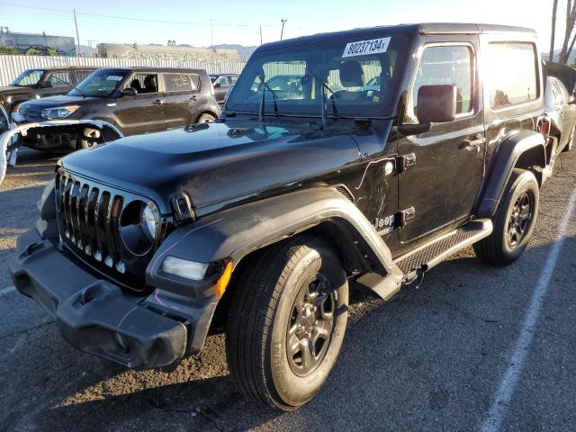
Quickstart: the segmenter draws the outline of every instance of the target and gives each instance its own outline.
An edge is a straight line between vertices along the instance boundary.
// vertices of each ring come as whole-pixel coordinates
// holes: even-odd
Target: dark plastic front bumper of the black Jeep
[[[132,368],[171,365],[195,351],[189,342],[203,342],[213,312],[210,302],[183,307],[186,316],[162,311],[169,294],[125,293],[85,272],[36,229],[18,238],[9,268],[16,289],[55,317],[68,343]]]

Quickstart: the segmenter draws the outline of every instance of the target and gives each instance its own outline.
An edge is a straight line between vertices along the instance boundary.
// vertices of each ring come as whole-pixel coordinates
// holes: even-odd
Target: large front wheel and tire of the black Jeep
[[[296,410],[336,364],[347,325],[346,272],[328,243],[308,236],[266,247],[243,269],[226,331],[232,380],[250,401]],[[304,352],[315,336],[308,346],[315,349]]]

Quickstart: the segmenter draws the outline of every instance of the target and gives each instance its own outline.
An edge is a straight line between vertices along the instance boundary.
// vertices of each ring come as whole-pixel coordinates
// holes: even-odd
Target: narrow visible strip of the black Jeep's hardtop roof
[[[481,34],[481,33],[509,33],[521,38],[534,39],[536,31],[527,27],[514,27],[500,24],[477,24],[477,23],[416,23],[383,25],[377,27],[365,27],[346,31],[333,31],[302,36],[300,38],[270,42],[262,45],[260,49],[273,49],[280,46],[301,45],[322,40],[350,40],[355,38],[370,38],[375,33],[382,34]]]

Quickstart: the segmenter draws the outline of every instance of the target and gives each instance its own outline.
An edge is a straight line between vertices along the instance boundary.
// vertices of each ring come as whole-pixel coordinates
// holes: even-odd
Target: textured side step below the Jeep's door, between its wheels
[[[420,271],[428,271],[464,247],[469,247],[482,238],[490,236],[492,229],[492,221],[489,219],[472,220],[464,227],[448,232],[396,258],[394,264],[400,267],[406,276],[405,280],[410,282],[419,275]],[[401,290],[401,284],[395,284],[388,275],[368,273],[357,278],[356,282],[369,287],[383,300],[390,299]]]

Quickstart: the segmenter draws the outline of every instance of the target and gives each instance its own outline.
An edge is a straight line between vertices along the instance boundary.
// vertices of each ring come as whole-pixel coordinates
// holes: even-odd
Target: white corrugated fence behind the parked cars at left
[[[208,73],[239,73],[245,63],[224,63],[220,61],[171,61],[130,58],[74,58],[47,56],[2,56],[0,55],[0,86],[10,84],[25,69],[42,67],[95,66],[95,67],[191,67],[206,69]]]

